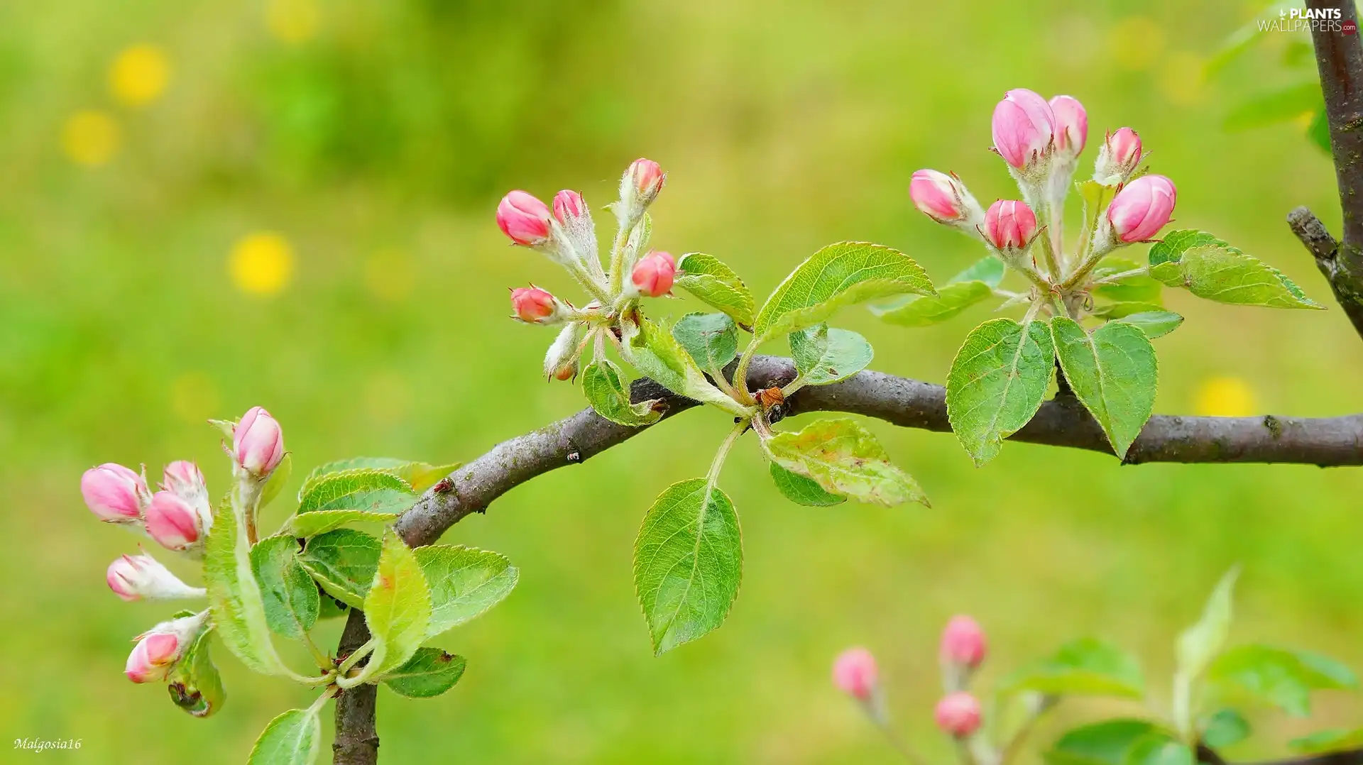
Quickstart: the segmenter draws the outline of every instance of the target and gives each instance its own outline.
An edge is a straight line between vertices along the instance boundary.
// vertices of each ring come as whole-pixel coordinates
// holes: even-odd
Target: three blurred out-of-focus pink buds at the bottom
[[[938,650],[945,695],[934,709],[934,720],[943,734],[961,742],[969,742],[976,750],[983,750],[988,745],[973,739],[980,730],[983,710],[980,700],[969,693],[968,686],[975,670],[984,663],[987,652],[984,630],[975,619],[953,616],[947,622]],[[878,727],[894,738],[889,730],[879,671],[870,650],[849,648],[840,653],[833,661],[833,685],[852,697]],[[895,745],[901,750],[908,749],[897,740]]]

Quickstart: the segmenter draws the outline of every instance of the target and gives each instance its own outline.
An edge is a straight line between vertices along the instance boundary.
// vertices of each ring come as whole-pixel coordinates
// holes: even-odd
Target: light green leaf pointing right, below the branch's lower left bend
[[[474,547],[432,544],[418,547],[416,556],[431,589],[427,638],[502,603],[521,577],[504,555]]]

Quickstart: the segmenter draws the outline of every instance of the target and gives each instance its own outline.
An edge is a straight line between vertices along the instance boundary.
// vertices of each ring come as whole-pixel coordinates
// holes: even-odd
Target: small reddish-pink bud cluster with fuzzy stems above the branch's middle
[[[635,160],[620,177],[620,199],[611,205],[619,230],[605,263],[598,254],[596,224],[577,191],[560,191],[545,205],[525,191],[512,191],[497,205],[497,226],[514,243],[547,255],[563,266],[590,295],[575,308],[545,289],[530,285],[511,290],[511,315],[529,325],[567,325],[545,355],[547,378],[571,379],[586,344],[622,335],[619,323],[642,297],[671,295],[676,259],[647,250],[652,224],[647,209],[667,183],[652,160]]]

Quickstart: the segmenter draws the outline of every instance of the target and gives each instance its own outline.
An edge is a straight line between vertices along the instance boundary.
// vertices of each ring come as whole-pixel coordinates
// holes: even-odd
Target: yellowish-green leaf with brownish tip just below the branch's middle
[[[776,434],[763,447],[776,464],[830,494],[886,507],[928,505],[917,481],[895,468],[875,435],[856,420],[815,420],[799,432]]]

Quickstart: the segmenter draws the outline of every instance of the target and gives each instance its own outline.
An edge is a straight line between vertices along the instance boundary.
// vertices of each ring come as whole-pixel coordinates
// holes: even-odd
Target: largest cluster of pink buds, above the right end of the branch
[[[1073,284],[1112,248],[1150,240],[1174,214],[1174,183],[1164,176],[1139,175],[1145,154],[1137,132],[1127,127],[1108,132],[1093,180],[1114,190],[1112,200],[1092,241],[1079,243],[1084,256],[1067,259],[1065,196],[1088,143],[1088,112],[1070,95],[1047,101],[1017,89],[995,106],[991,131],[994,151],[1017,180],[1021,200],[1000,199],[980,213],[961,179],[928,169],[913,173],[909,196],[930,218],[981,239],[1005,263],[1037,284]],[[1048,233],[1039,259],[1032,252],[1043,232]]]

